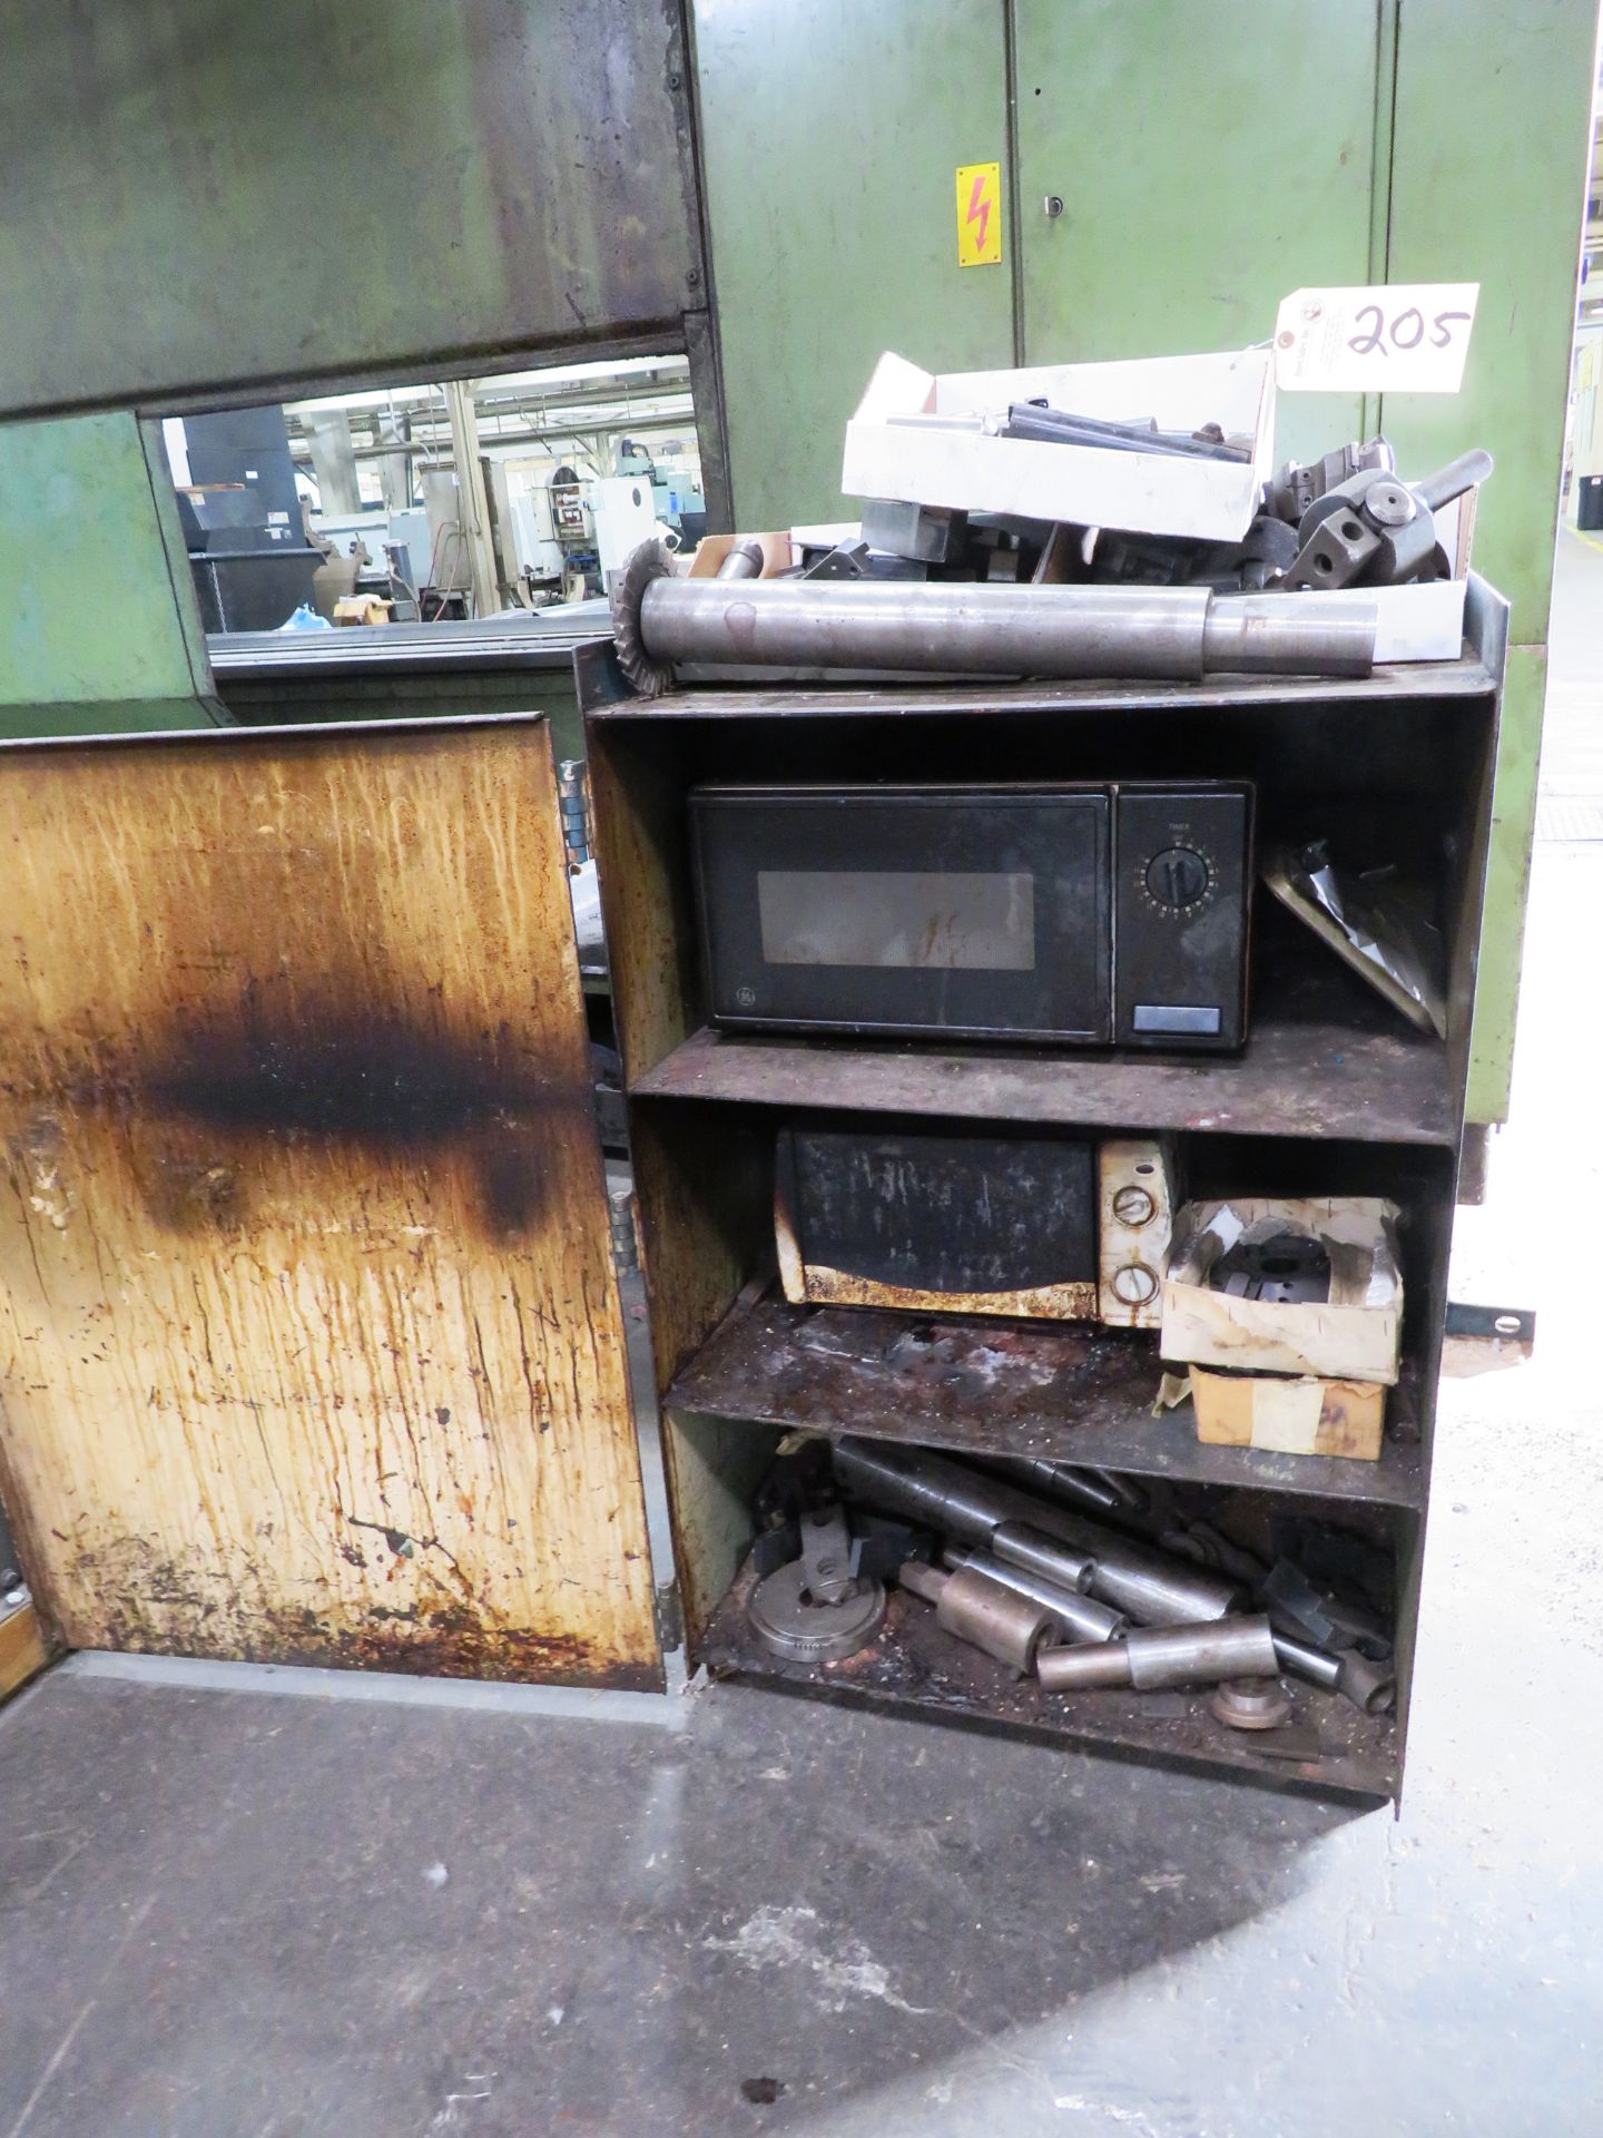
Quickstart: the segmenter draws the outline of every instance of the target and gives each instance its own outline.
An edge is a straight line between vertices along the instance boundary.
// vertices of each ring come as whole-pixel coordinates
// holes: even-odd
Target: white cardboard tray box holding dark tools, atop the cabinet
[[[1156,417],[1163,430],[1218,423],[1227,434],[1246,432],[1255,440],[1252,460],[1109,453],[904,421],[1000,410],[1039,396],[1075,415]],[[923,372],[887,353],[846,423],[840,487],[853,498],[1240,541],[1274,472],[1272,460],[1274,363],[1267,348],[1011,372]]]

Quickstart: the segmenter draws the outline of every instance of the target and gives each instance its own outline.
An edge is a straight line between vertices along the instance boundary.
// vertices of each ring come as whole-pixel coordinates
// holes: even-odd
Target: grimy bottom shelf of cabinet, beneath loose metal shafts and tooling
[[[1293,1685],[1291,1725],[1274,1732],[1270,1753],[1265,1740],[1216,1723],[1205,1693],[1101,1689],[1073,1700],[1043,1693],[1034,1678],[1009,1678],[990,1657],[943,1633],[928,1606],[898,1591],[885,1625],[859,1655],[842,1663],[787,1663],[750,1629],[746,1604],[754,1580],[746,1565],[707,1625],[705,1661],[714,1678],[1314,1796],[1372,1802],[1398,1785],[1396,1723],[1359,1715],[1312,1685]]]

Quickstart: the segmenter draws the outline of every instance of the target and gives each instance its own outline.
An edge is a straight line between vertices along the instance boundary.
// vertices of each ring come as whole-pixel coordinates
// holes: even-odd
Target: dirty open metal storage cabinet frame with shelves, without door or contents
[[[596,845],[628,1090],[652,1349],[690,1651],[761,1678],[1280,1785],[1385,1798],[1400,1785],[1436,1411],[1447,1255],[1464,1120],[1475,943],[1490,823],[1507,605],[1468,588],[1460,661],[1366,682],[1201,686],[994,684],[684,688],[641,701],[609,646],[577,656]],[[804,776],[1255,778],[1270,836],[1304,806],[1376,821],[1432,866],[1451,954],[1445,1041],[1406,1028],[1308,939],[1259,960],[1235,1058],[1129,1058],[958,1045],[731,1037],[703,1022],[686,855],[699,780]],[[1406,842],[1406,845],[1404,845]],[[1404,1377],[1379,1462],[1201,1445],[1152,1417],[1156,1347],[1120,1332],[1009,1328],[1011,1364],[966,1355],[996,1321],[836,1311],[827,1343],[772,1283],[774,1129],[793,1110],[1171,1131],[1205,1193],[1389,1195],[1406,1217]],[[896,1362],[887,1345],[896,1343]],[[1081,1706],[1007,1691],[945,1633],[881,1636],[846,1663],[778,1663],[746,1631],[750,1490],[789,1428],[1013,1452],[1188,1479],[1252,1503],[1325,1505],[1396,1552],[1400,1710],[1321,1717],[1287,1766],[1210,1725],[1201,1698],[1154,1715],[1135,1695]]]

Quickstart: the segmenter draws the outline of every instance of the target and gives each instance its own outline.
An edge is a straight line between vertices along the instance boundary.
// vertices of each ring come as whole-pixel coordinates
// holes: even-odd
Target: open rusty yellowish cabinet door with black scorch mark
[[[0,750],[0,1497],[83,1648],[654,1687],[541,718]]]

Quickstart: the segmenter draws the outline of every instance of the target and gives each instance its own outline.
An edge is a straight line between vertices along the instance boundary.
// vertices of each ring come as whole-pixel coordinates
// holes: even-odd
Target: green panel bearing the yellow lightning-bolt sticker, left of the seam
[[[1013,361],[1013,246],[958,265],[955,169],[1007,169],[1002,0],[697,0],[735,524],[855,517],[846,417],[885,348]]]

